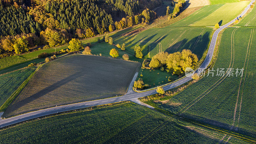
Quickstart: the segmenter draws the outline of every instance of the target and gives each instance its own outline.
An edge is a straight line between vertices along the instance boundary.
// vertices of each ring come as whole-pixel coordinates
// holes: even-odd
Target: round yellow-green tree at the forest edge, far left
[[[16,54],[28,52],[28,41],[25,39],[25,37],[20,37],[14,42],[13,47]]]

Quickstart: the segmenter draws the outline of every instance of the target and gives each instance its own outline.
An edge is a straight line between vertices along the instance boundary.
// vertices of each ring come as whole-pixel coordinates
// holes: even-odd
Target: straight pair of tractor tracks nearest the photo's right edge
[[[254,29],[251,30],[251,35],[250,35],[250,39],[249,39],[249,43],[248,43],[248,47],[247,47],[247,53],[246,53],[246,57],[245,57],[245,61],[244,61],[244,70],[245,70],[245,69],[246,69],[246,70],[245,70],[244,82],[243,82],[243,88],[242,88],[242,90],[244,90],[244,83],[245,83],[245,79],[246,79],[246,75],[247,75],[247,68],[248,68],[248,63],[249,63],[249,58],[250,58],[251,47],[252,47],[253,33],[254,33]],[[249,49],[249,47],[250,47],[250,49]],[[248,53],[248,51],[249,51],[249,53]],[[247,58],[247,55],[248,55],[248,58]],[[247,59],[248,59],[248,60],[247,60]],[[245,68],[246,61],[247,61],[247,66],[246,66],[246,68]],[[235,124],[236,110],[237,110],[237,104],[238,104],[238,99],[239,99],[239,93],[240,93],[240,87],[241,87],[242,79],[243,79],[243,76],[241,77],[240,84],[239,84],[239,88],[238,88],[237,99],[236,99],[236,105],[235,105],[235,109],[234,109],[234,119],[233,119],[233,124],[232,124],[232,126],[234,126],[234,124]],[[238,115],[238,118],[237,118],[237,124],[239,123],[239,120],[240,120],[241,107],[242,107],[242,100],[243,100],[243,91],[242,91],[242,94],[241,94],[241,101],[240,101],[240,106],[239,106],[239,115]]]

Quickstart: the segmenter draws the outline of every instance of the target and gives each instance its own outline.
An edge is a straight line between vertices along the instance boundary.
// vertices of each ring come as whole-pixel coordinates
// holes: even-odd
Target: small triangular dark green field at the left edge
[[[35,70],[31,67],[0,76],[0,107]]]

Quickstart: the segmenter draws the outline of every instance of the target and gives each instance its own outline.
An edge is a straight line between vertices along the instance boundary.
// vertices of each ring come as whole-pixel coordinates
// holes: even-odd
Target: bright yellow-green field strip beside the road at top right
[[[214,26],[216,23],[224,25],[236,18],[248,4],[249,1],[224,4],[219,9],[212,12],[212,14],[191,26]]]

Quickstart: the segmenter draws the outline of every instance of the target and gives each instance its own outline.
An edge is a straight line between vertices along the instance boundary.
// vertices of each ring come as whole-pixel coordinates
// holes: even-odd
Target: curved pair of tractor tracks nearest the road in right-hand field
[[[230,56],[230,63],[228,68],[230,68],[231,63],[232,63],[232,57],[233,57],[233,64],[231,66],[231,68],[233,68],[234,65],[234,59],[235,59],[235,51],[234,51],[234,42],[232,41],[232,38],[234,37],[234,34],[236,32],[237,28],[233,30],[232,34],[231,34],[231,56]],[[233,47],[233,49],[232,49]],[[233,52],[232,52],[233,51]],[[198,97],[196,97],[196,99],[194,99],[193,101],[191,101],[190,103],[188,103],[184,108],[186,108],[187,106],[189,106],[192,102],[194,102],[196,100],[196,102],[198,102],[199,100],[201,100],[206,94],[208,94],[209,92],[211,92],[217,85],[219,85],[228,75],[227,74],[228,71],[226,71],[226,73],[216,82],[214,83],[209,89],[207,89],[206,91],[204,91],[201,95],[199,95]],[[225,76],[226,75],[226,76]],[[224,77],[225,76],[225,77]],[[223,78],[224,77],[224,78]],[[219,82],[219,83],[218,83]],[[217,84],[218,83],[218,84]],[[216,84],[216,85],[215,85]],[[210,90],[211,89],[211,90]],[[209,91],[208,91],[209,90]],[[207,92],[208,91],[208,92]],[[207,92],[207,93],[205,93]],[[202,96],[203,95],[203,96]],[[202,97],[201,97],[202,96]],[[201,97],[200,99],[198,99],[199,97]],[[197,100],[198,99],[198,100]],[[182,111],[183,113],[185,111],[187,111],[189,108],[191,108],[194,104],[196,104],[196,102],[194,102],[192,105],[190,105],[186,110],[183,111],[184,108],[182,108],[178,114],[180,114]]]

